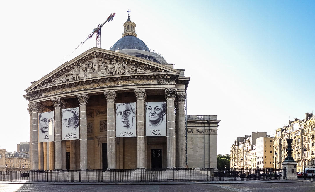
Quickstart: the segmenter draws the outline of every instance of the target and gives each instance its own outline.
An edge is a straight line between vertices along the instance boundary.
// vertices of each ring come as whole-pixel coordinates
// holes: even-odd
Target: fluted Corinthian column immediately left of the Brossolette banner
[[[115,169],[115,99],[116,91],[104,91],[107,100],[107,169]]]

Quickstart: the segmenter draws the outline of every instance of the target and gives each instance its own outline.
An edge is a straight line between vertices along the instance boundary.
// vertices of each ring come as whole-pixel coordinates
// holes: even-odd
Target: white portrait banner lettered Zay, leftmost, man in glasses
[[[54,111],[38,113],[38,143],[54,141]]]

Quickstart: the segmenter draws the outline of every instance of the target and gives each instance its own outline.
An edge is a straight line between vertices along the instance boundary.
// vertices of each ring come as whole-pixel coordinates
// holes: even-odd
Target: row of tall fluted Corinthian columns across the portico
[[[107,101],[107,169],[116,169],[115,164],[115,99],[117,93],[114,90],[104,92]],[[146,169],[146,137],[145,137],[145,101],[146,90],[135,89],[137,102],[136,125],[137,125],[137,169]],[[87,116],[86,106],[89,95],[77,95],[80,104],[80,127],[79,127],[79,169],[87,169]],[[186,167],[186,140],[185,140],[185,100],[186,93],[177,93],[175,88],[165,88],[166,115],[167,115],[167,168],[176,167],[176,143],[178,154],[178,168]],[[176,133],[175,133],[175,101],[176,109]],[[31,102],[30,111],[30,160],[31,170],[66,169],[66,141],[61,139],[61,108],[66,107],[62,98],[51,100],[54,105],[54,142],[38,143],[38,120],[37,114],[43,111],[40,103]],[[177,137],[177,138],[176,138]],[[176,139],[178,141],[176,142]],[[77,169],[76,165],[76,146],[77,140],[70,140],[70,169]],[[48,151],[49,150],[49,153]],[[48,155],[49,154],[49,155]],[[49,162],[45,163],[44,162]]]

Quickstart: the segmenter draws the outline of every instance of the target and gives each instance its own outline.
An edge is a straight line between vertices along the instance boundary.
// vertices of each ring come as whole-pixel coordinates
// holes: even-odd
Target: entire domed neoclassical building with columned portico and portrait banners
[[[26,89],[31,170],[217,167],[220,120],[187,115],[190,77],[150,52],[129,18],[123,27],[110,50],[89,49]]]

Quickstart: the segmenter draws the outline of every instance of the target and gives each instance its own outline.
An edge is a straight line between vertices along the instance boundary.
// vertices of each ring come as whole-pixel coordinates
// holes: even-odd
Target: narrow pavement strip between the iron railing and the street
[[[195,182],[0,182],[9,184],[45,184],[45,185],[192,185],[192,184],[244,184],[244,183],[301,183],[303,180],[251,180],[251,181],[195,181]]]

